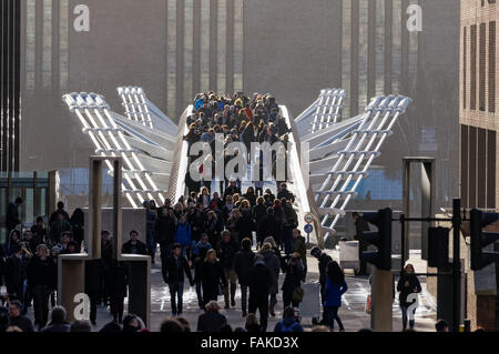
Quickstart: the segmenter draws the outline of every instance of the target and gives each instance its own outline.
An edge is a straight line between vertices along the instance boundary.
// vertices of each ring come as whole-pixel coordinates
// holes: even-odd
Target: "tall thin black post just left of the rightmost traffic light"
[[[460,225],[461,225],[461,200],[452,201],[452,230],[454,230],[454,247],[452,247],[452,275],[454,275],[454,302],[452,302],[452,331],[459,332],[461,318],[461,255],[460,255]]]

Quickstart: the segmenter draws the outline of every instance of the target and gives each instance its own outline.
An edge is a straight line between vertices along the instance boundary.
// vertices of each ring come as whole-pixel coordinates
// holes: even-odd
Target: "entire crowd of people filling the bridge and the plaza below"
[[[255,93],[252,99],[241,93],[234,97],[213,92],[198,94],[187,125],[185,140],[190,144],[200,141],[213,144],[215,134],[223,136],[224,146],[235,141],[247,148],[252,142],[272,144],[282,141],[284,146],[288,142],[289,128],[269,94]],[[281,152],[277,151],[273,159],[277,159]],[[215,163],[215,159],[212,160]],[[252,181],[243,192],[243,181],[237,176],[225,175],[216,181],[214,175],[203,175],[201,181],[195,182],[187,173],[189,192],[185,198],[175,204],[170,199],[163,205],[156,205],[155,201],[143,203],[145,242],[140,241],[139,232],[132,230],[121,252],[150,255],[154,263],[159,249],[162,277],[170,291],[172,312],[172,317],[162,323],[162,332],[191,331],[183,317],[186,282],[195,289],[201,310],[196,331],[266,332],[268,316],[276,316],[279,291],[283,318],[273,330],[304,331],[297,309],[304,299],[302,284],[307,275],[307,246],[297,229],[295,196],[288,190],[287,175],[277,181],[275,171],[273,174],[272,189],[276,190],[277,195],[271,188],[264,189],[263,180]],[[126,263],[113,260],[112,235],[108,231],[101,233],[101,259],[85,262],[90,323],[67,323],[65,310],[55,306],[58,256],[84,251],[83,211],[77,209],[70,218],[60,202],[58,210],[48,219],[48,226],[43,218],[38,218],[34,225],[22,230],[18,212],[22,203],[22,199],[18,198],[9,204],[6,215],[8,237],[0,245],[0,285],[4,283],[7,287],[0,307],[0,332],[34,331],[31,320],[26,316],[31,305],[34,326],[39,331],[89,332],[91,324],[96,325],[96,306],[100,304],[109,305],[113,317],[102,327],[102,332],[147,331],[139,316],[124,315],[129,267]],[[319,265],[324,309],[323,326],[317,326],[315,331],[334,330],[335,323],[339,331],[345,331],[338,316],[342,296],[348,290],[343,270],[318,247],[314,247],[310,254]],[[283,277],[281,283],[279,277]],[[237,286],[241,289],[241,311],[246,325],[233,330],[220,312],[217,300],[223,296],[224,309],[234,310]],[[407,267],[398,283],[398,291],[401,307],[407,310],[407,295],[420,292],[414,267]],[[52,312],[49,321],[50,304]],[[406,325],[407,316],[404,317],[404,327]],[[414,328],[414,321],[409,321],[409,326]]]

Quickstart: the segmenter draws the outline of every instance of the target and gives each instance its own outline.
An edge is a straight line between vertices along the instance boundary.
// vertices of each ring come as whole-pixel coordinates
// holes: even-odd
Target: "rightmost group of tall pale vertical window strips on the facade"
[[[353,6],[354,1],[358,2],[358,7]],[[369,8],[369,1],[376,2],[374,10]],[[353,102],[358,102],[359,113],[365,111],[371,99],[368,97],[369,88],[371,90],[374,88],[375,95],[400,93],[403,40],[406,38],[408,42],[404,44],[408,48],[409,82],[405,84],[413,87],[417,84],[419,36],[417,31],[409,32],[406,37],[403,36],[408,19],[404,3],[403,0],[342,0],[342,88],[347,91],[348,95],[343,110],[344,117],[350,117],[350,112],[356,111],[350,108]],[[418,0],[411,0],[407,2],[407,6],[418,3]],[[389,13],[391,13],[391,19],[386,18]],[[358,29],[355,27],[356,21],[358,21]],[[353,24],[355,26],[353,27]],[[354,30],[358,30],[358,41],[353,38]],[[374,33],[369,31],[374,31]],[[374,45],[374,49],[370,45]],[[353,58],[353,52],[356,50],[358,57]],[[353,70],[355,65],[358,65],[358,78],[355,77]],[[369,72],[368,68],[373,68],[375,74]],[[386,72],[387,70],[390,72]],[[391,92],[385,92],[388,83],[386,80],[389,77],[391,78],[389,82]],[[353,90],[355,87],[358,87],[358,97],[352,97],[356,94]]]

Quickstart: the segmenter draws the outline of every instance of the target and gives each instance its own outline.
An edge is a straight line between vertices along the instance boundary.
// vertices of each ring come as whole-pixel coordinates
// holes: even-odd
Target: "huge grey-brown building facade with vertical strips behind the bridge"
[[[401,208],[406,155],[437,159],[437,206],[458,195],[456,0],[21,3],[21,170],[88,168],[94,151],[62,103],[68,92],[104,94],[120,112],[115,88],[140,85],[176,120],[200,91],[272,92],[297,117],[336,87],[347,91],[344,117],[363,113],[374,95],[414,99],[353,209]],[[420,31],[407,27],[414,6]]]

